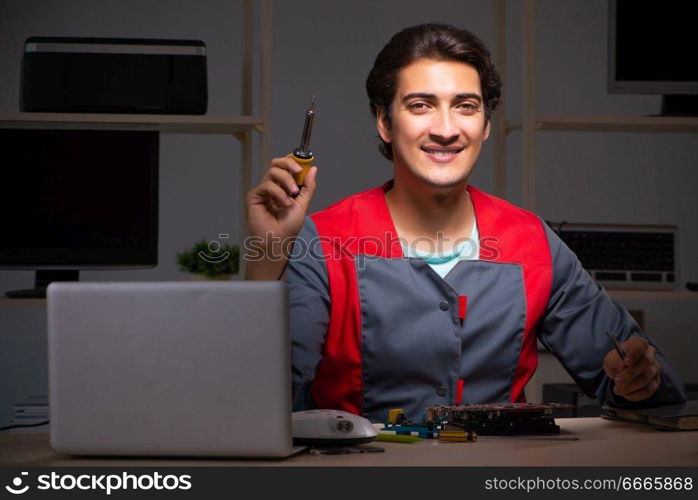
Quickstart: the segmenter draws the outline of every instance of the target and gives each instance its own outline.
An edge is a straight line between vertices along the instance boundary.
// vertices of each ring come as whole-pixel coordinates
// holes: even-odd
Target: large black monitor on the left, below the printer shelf
[[[76,281],[157,264],[157,131],[0,128],[0,269]]]

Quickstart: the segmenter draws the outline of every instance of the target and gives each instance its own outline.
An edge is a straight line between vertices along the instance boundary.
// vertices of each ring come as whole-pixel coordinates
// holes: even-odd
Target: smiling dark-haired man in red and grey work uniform
[[[540,218],[468,185],[501,88],[479,39],[407,28],[366,87],[392,181],[305,217],[317,170],[299,189],[300,167],[276,158],[247,195],[265,245],[248,279],[278,279],[287,259],[274,260],[274,242],[298,235],[286,270],[296,409],[416,420],[431,405],[524,401],[536,339],[604,403],[685,399],[655,344]]]

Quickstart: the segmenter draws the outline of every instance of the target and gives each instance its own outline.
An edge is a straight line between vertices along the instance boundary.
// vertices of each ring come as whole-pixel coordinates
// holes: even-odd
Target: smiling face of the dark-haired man
[[[475,68],[418,59],[398,73],[391,111],[390,127],[379,112],[378,132],[392,143],[396,177],[431,188],[467,182],[490,132]]]

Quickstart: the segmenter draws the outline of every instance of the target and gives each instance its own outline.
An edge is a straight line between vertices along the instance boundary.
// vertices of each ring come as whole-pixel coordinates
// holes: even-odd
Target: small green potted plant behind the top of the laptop
[[[202,238],[191,248],[177,252],[177,265],[192,279],[229,280],[240,270],[240,247]]]

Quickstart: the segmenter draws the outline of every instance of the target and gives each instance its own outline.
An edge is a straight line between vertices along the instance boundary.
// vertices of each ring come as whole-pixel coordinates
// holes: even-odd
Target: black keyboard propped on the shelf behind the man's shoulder
[[[606,288],[678,287],[676,226],[552,223],[551,227]]]

